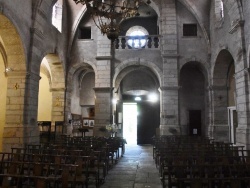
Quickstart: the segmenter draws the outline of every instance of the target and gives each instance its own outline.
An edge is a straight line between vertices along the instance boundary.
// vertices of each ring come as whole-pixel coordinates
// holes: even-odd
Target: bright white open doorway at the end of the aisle
[[[123,137],[127,144],[137,144],[137,104],[123,103]]]

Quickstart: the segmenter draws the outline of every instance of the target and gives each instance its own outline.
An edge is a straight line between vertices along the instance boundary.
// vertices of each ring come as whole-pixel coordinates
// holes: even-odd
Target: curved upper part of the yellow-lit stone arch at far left
[[[0,14],[0,23],[1,46],[5,49],[5,53],[2,53],[5,66],[13,71],[26,71],[25,49],[17,28],[2,14]],[[4,51],[1,50],[1,52]]]

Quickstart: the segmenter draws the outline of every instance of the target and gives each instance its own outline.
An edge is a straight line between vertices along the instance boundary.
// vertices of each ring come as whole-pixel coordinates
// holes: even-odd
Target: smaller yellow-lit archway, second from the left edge
[[[57,54],[46,54],[40,65],[38,94],[39,121],[51,121],[52,130],[56,121],[64,120],[65,74]]]

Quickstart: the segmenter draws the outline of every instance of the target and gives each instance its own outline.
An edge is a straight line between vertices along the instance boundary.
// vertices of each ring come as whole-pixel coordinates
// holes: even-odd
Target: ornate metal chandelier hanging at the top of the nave
[[[86,5],[95,25],[103,35],[114,41],[120,32],[120,22],[124,19],[139,16],[139,7],[143,0],[73,0],[76,4]],[[147,0],[147,4],[151,1]]]

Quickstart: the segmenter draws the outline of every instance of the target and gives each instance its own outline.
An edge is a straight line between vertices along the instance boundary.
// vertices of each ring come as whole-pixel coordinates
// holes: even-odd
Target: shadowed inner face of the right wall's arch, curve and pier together
[[[234,65],[231,53],[221,50],[215,61],[212,79],[213,137],[216,140],[229,141],[228,131],[228,76],[230,65]]]

